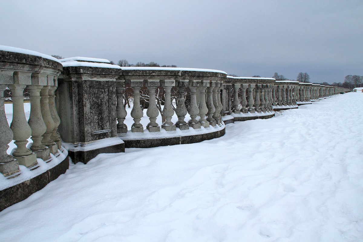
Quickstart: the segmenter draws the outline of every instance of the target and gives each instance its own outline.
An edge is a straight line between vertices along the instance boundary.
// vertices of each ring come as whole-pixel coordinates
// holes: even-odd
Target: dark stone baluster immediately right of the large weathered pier
[[[126,119],[126,109],[123,103],[123,90],[125,89],[125,82],[123,80],[116,81],[116,118],[117,118],[117,133],[127,133],[127,125],[123,123]],[[149,104],[150,106],[150,104]]]

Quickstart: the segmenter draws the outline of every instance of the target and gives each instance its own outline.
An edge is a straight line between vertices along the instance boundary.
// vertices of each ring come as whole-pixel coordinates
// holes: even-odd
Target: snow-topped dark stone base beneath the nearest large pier
[[[78,162],[87,164],[88,161],[100,153],[125,152],[125,143],[118,137],[95,140],[87,144],[62,144],[68,149],[69,157],[75,164]]]

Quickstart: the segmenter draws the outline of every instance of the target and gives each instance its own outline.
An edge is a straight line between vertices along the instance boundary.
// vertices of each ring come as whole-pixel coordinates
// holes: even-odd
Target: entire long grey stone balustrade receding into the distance
[[[68,154],[73,163],[87,163],[99,153],[125,152],[128,147],[196,143],[223,136],[225,124],[272,118],[274,110],[351,91],[273,78],[231,77],[210,69],[119,67],[84,57],[57,60],[7,46],[0,46],[0,88],[0,172],[16,180],[21,177],[19,165],[24,165],[36,174],[1,190],[0,210],[64,173]],[[10,127],[4,110],[7,88],[13,105]],[[25,88],[30,93],[29,120],[24,111]],[[132,122],[123,98],[126,88],[132,89]],[[140,105],[145,90],[146,112]],[[156,97],[160,92],[164,95]],[[158,122],[160,113],[162,122]],[[13,152],[9,144],[16,145]],[[37,158],[59,162],[37,173],[41,170],[36,169]]]

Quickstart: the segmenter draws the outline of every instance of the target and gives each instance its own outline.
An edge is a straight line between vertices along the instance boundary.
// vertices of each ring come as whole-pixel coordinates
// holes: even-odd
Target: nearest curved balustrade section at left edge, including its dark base
[[[61,71],[56,58],[0,46],[0,172],[7,178],[0,184],[0,210],[24,200],[68,169],[68,151],[57,133],[59,118],[54,103]],[[10,127],[4,110],[7,88],[13,107]],[[28,120],[24,89],[30,93]],[[9,144],[15,148],[9,150]],[[40,168],[45,163],[47,168]],[[28,171],[24,174],[19,165]]]

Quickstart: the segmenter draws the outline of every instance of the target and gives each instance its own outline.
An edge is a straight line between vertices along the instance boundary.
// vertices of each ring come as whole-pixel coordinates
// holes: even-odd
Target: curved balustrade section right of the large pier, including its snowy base
[[[190,144],[223,136],[225,125],[220,114],[223,108],[220,93],[226,76],[224,71],[209,69],[122,67],[122,75],[116,83],[120,92],[126,85],[132,88],[133,124],[127,127],[124,122],[119,123],[123,130],[118,130],[118,137],[125,142],[126,148],[148,148]],[[140,107],[141,89],[149,93],[146,116]],[[158,97],[158,102],[164,102],[160,113],[164,119],[162,123],[156,122],[159,116],[156,89],[165,93]],[[186,95],[190,97],[188,102],[185,102]],[[121,97],[117,102],[123,106]],[[174,114],[178,117],[176,121],[172,120]],[[118,109],[117,116],[125,120],[125,108]],[[142,125],[145,119],[150,120],[146,127]]]

